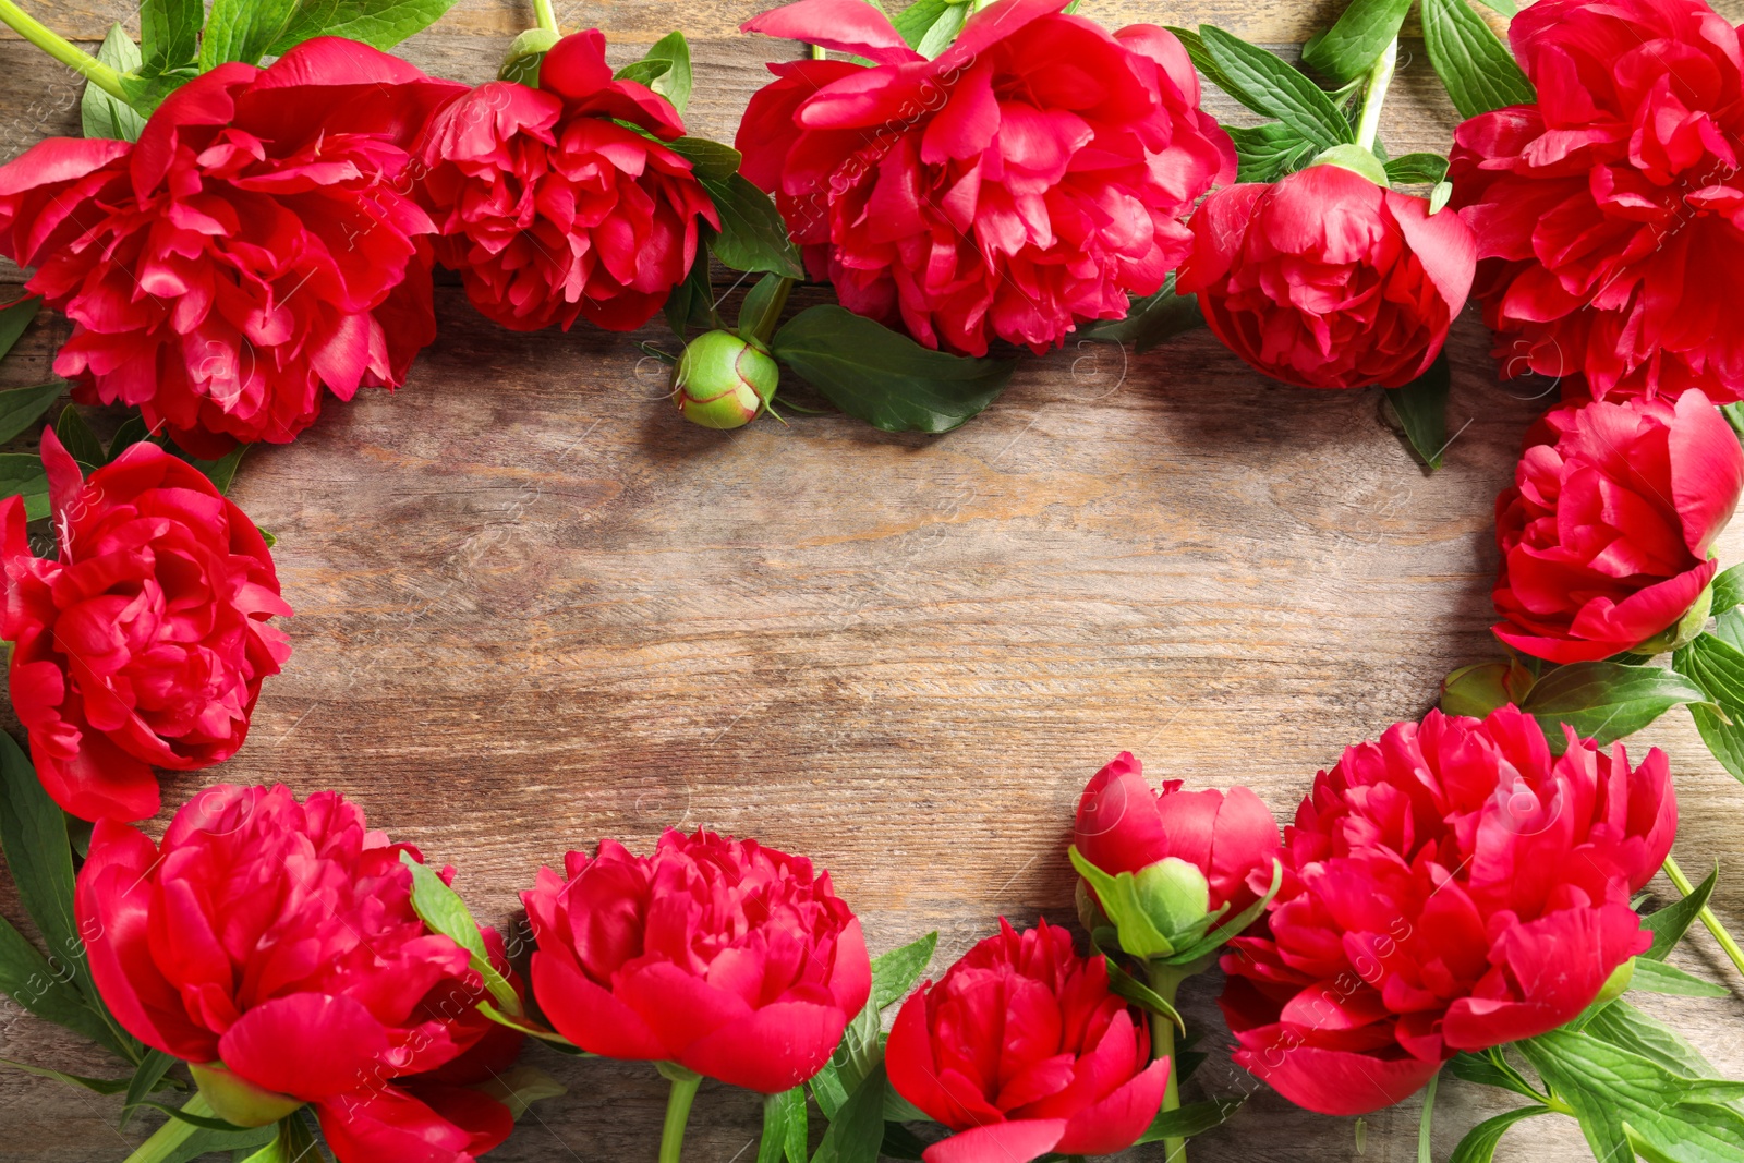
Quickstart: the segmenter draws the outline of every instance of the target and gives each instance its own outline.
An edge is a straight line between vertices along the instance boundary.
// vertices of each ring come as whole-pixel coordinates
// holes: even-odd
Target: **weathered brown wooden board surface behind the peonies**
[[[692,133],[732,139],[762,61],[794,45],[734,35],[764,0],[569,3],[619,59],[673,26],[694,42]],[[1739,5],[1725,5],[1737,19]],[[126,0],[37,2],[94,44]],[[1299,44],[1336,3],[1088,0],[1118,26],[1214,21]],[[494,75],[532,23],[518,0],[460,0],[403,54],[466,82]],[[1446,150],[1453,110],[1421,40],[1383,136]],[[77,134],[80,82],[0,40],[0,157]],[[1230,106],[1212,96],[1219,113]],[[722,289],[731,284],[726,272]],[[0,296],[21,279],[0,269]],[[1346,743],[1421,715],[1441,677],[1495,654],[1491,504],[1545,401],[1500,385],[1467,312],[1451,342],[1448,467],[1425,476],[1374,392],[1322,394],[1250,373],[1200,331],[1146,357],[1106,345],[1025,361],[1012,391],[942,438],[858,422],[678,418],[638,338],[511,335],[438,289],[441,338],[408,385],[331,405],[291,446],[251,453],[234,497],[279,537],[295,642],[242,753],[171,779],[338,788],[373,825],[460,870],[481,919],[509,922],[541,863],[614,835],[647,847],[706,825],[830,868],[874,952],[930,929],[940,968],[1001,914],[1071,915],[1064,847],[1083,781],[1123,748],[1156,778],[1254,786],[1287,818]],[[66,323],[35,324],[0,370],[40,382]],[[1744,528],[1721,544],[1744,556]],[[9,718],[9,717],[7,717]],[[1730,875],[1744,928],[1744,788],[1674,713],[1639,746],[1672,755],[1678,856]],[[159,821],[160,826],[162,821]],[[1699,874],[1697,874],[1699,875]],[[1664,882],[1655,882],[1666,891]],[[16,898],[0,910],[17,919]],[[1699,933],[1679,964],[1720,973]],[[1727,980],[1744,989],[1735,975]],[[1186,987],[1221,1048],[1216,975]],[[1737,996],[1650,999],[1734,1078]],[[10,1004],[0,1055],[99,1072]],[[652,1160],[652,1067],[530,1058],[570,1095],[534,1109],[502,1163]],[[1296,1111],[1214,1057],[1189,1095],[1254,1090],[1200,1140],[1200,1163],[1359,1154],[1355,1119]],[[1442,1086],[1435,1158],[1496,1092]],[[152,1121],[117,1098],[0,1071],[0,1160],[119,1163]],[[708,1085],[687,1160],[746,1161],[759,1104]],[[1418,1104],[1367,1119],[1364,1160],[1413,1160]],[[1134,1160],[1162,1160],[1162,1147]],[[1533,1119],[1500,1160],[1585,1158],[1568,1119]]]

